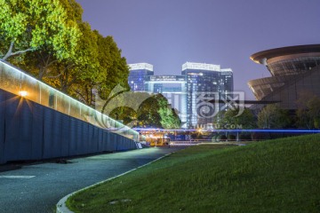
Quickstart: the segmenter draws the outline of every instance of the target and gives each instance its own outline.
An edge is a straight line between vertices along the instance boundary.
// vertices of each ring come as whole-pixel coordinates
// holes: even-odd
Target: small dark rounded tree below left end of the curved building
[[[288,112],[276,104],[263,107],[258,114],[258,127],[261,129],[280,129],[290,123]]]

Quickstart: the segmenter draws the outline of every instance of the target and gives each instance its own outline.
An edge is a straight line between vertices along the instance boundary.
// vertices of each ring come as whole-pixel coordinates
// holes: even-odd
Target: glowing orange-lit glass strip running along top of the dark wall
[[[116,122],[106,114],[101,114],[76,99],[72,99],[4,61],[0,61],[0,89],[9,91],[17,96],[23,96],[25,99],[34,101],[42,106],[51,107],[60,113],[68,114],[102,129],[113,131],[126,138],[132,138],[133,140],[138,140],[139,138],[137,131],[120,122]]]

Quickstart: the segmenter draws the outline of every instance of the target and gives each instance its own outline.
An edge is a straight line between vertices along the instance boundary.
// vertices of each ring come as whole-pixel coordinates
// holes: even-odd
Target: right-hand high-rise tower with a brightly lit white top
[[[182,75],[187,81],[187,126],[212,123],[212,117],[220,110],[220,105],[209,103],[212,99],[222,99],[233,91],[233,72],[220,65],[191,63],[182,65]]]

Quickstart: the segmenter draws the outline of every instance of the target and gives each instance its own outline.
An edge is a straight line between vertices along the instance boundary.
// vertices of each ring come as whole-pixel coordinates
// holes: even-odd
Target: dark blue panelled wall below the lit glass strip
[[[132,139],[0,90],[0,163],[136,148]]]

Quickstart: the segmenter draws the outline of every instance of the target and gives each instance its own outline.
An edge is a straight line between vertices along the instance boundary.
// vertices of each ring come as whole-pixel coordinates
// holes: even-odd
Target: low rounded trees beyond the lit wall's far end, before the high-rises
[[[107,100],[101,99],[97,103],[104,114],[130,126],[165,129],[180,127],[178,114],[169,107],[168,100],[161,94],[126,91],[118,85]]]

